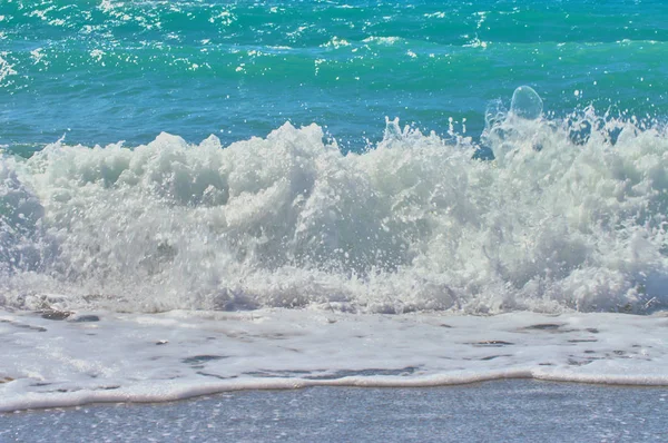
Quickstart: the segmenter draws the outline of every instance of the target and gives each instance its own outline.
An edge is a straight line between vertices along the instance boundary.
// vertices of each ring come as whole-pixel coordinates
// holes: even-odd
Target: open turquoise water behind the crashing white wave
[[[637,0],[2,0],[0,145],[228,144],[291,121],[360,151],[385,116],[477,137],[520,85],[557,116],[662,119],[667,18]]]

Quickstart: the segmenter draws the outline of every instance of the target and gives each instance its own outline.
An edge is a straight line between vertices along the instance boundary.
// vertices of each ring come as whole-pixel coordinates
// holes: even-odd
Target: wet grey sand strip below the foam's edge
[[[0,442],[668,441],[668,387],[508,380],[247,391],[0,414]]]

